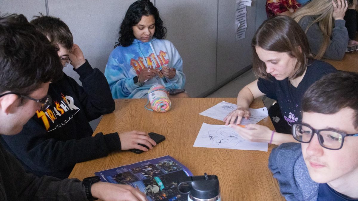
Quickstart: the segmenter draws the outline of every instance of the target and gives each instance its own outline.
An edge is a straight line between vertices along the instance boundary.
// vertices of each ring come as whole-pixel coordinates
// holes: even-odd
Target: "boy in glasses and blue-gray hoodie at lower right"
[[[315,82],[302,100],[302,143],[272,149],[269,168],[290,200],[358,200],[358,73],[337,72]]]

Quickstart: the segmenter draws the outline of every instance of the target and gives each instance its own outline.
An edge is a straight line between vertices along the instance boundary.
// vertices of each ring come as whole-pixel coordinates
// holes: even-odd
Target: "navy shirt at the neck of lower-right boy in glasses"
[[[350,199],[339,192],[335,191],[333,188],[328,186],[327,183],[320,183],[318,188],[318,197],[317,201],[358,201],[357,199]]]

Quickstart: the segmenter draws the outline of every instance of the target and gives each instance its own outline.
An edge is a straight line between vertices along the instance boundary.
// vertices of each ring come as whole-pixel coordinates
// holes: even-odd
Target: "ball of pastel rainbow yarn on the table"
[[[171,107],[169,92],[161,84],[156,84],[148,91],[148,100],[152,109],[156,112],[166,112]]]

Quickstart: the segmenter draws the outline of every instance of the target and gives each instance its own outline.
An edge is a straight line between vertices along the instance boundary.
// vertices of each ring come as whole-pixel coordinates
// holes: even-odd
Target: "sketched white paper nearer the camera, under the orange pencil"
[[[249,142],[233,128],[203,123],[193,147],[266,151],[269,143]]]

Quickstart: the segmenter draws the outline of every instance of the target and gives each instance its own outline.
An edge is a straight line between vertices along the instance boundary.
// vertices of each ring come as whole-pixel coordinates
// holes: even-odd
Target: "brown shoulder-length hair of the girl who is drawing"
[[[256,77],[268,79],[265,63],[258,58],[256,46],[273,52],[284,52],[296,58],[297,63],[289,79],[300,77],[313,59],[306,34],[295,20],[288,16],[276,16],[265,20],[257,29],[251,41],[252,68]]]

